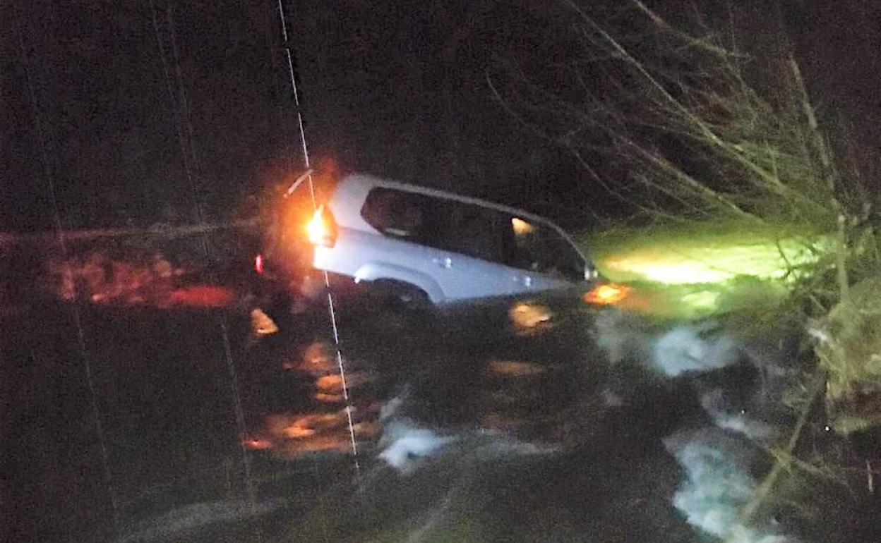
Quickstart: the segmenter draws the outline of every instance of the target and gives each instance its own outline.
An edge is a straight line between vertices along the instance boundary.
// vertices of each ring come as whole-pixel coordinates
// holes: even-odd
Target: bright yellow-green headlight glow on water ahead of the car
[[[712,224],[690,231],[606,231],[588,246],[604,277],[633,285],[623,309],[700,319],[780,303],[832,242],[823,236],[787,237],[782,229]]]

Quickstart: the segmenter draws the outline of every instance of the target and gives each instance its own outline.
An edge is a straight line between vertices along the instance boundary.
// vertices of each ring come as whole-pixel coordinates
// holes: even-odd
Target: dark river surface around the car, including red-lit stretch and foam
[[[150,247],[80,247],[98,298],[40,247],[0,260],[0,541],[876,539],[871,502],[812,479],[787,485],[813,509],[738,525],[753,441],[792,421],[759,421],[761,361],[717,323],[340,298],[346,400],[327,308],[248,297],[249,243],[213,270],[163,253],[165,278]]]

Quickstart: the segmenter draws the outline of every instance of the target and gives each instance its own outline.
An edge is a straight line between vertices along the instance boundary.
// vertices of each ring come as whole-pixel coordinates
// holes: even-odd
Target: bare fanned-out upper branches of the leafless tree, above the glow
[[[640,0],[611,13],[563,1],[583,52],[567,61],[576,88],[520,73],[517,91],[501,92],[490,79],[511,113],[570,150],[636,216],[831,236],[839,250],[825,264],[844,295],[848,245],[871,202],[859,176],[842,173],[783,27],[757,44],[731,13],[692,11],[675,26]]]

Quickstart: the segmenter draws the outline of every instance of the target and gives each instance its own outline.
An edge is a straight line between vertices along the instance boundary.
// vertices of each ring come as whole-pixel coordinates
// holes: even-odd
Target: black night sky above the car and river
[[[786,12],[815,99],[854,121],[875,150],[881,10],[871,4],[793,1]],[[275,4],[155,5],[156,26],[145,1],[0,7],[9,22],[0,29],[0,230],[51,227],[47,171],[63,224],[75,228],[189,219],[194,198],[222,215],[300,167]],[[318,161],[551,215],[602,199],[485,84],[487,71],[512,62],[549,86],[564,84],[574,45],[559,4],[300,0],[286,10]],[[189,123],[175,121],[176,67]],[[190,127],[192,185],[178,136],[189,145]]]

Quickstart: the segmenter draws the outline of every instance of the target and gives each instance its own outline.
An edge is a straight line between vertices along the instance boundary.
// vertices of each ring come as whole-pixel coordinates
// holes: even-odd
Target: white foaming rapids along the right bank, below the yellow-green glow
[[[595,325],[596,344],[611,363],[640,360],[668,378],[699,377],[745,361],[744,346],[725,334],[710,334],[709,325],[683,325],[659,333],[620,312],[599,315]],[[672,503],[688,524],[725,543],[793,543],[788,536],[741,522],[741,511],[757,487],[750,471],[758,451],[753,442],[778,434],[751,413],[751,398],[749,385],[726,377],[698,398],[711,426],[680,430],[663,439],[665,449],[685,470]]]

